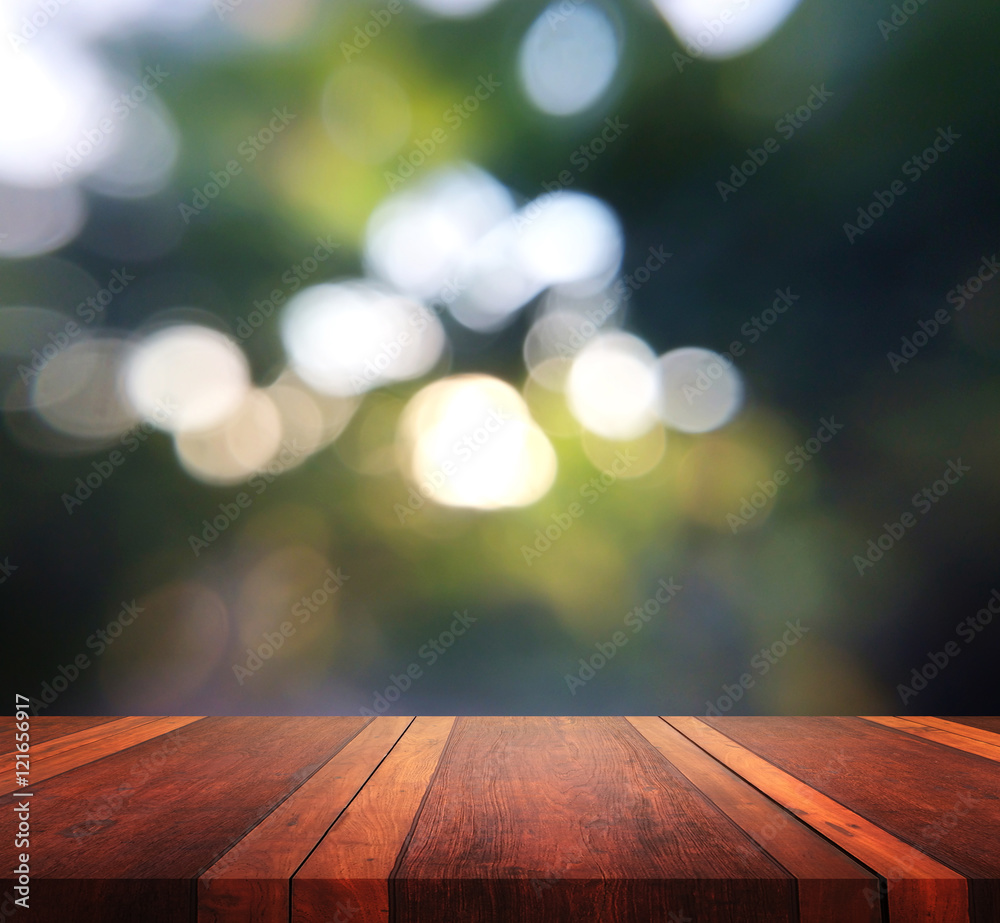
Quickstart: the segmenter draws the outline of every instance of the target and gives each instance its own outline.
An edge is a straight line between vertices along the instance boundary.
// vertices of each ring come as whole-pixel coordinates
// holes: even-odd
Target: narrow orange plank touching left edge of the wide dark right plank
[[[824,793],[826,780],[823,780],[822,772],[815,773],[817,779],[823,780],[817,790],[796,778],[790,771],[786,772],[758,753],[751,752],[749,743],[743,746],[746,734],[740,734],[739,742],[732,736],[734,731],[739,731],[738,726],[733,726],[732,719],[725,720],[722,725],[726,733],[716,729],[720,719],[665,720],[751,785],[886,879],[881,890],[887,897],[891,919],[921,923],[968,923],[968,885],[964,877],[867,820],[861,813],[829,797]],[[760,728],[761,719],[738,720],[752,722],[753,728]],[[808,719],[796,718],[793,726],[797,727],[806,720]],[[784,725],[784,730],[788,733],[788,725]],[[758,736],[760,733],[762,731],[758,730]],[[751,732],[749,736],[754,735]],[[791,739],[797,743],[799,736],[792,733]],[[824,763],[829,763],[830,754],[835,748],[843,749],[846,743],[841,736],[826,735],[823,739]],[[856,775],[849,770],[841,774],[852,779]],[[886,787],[890,797],[900,797],[902,789],[898,780],[893,779],[893,784],[885,785],[883,778],[881,784]]]

